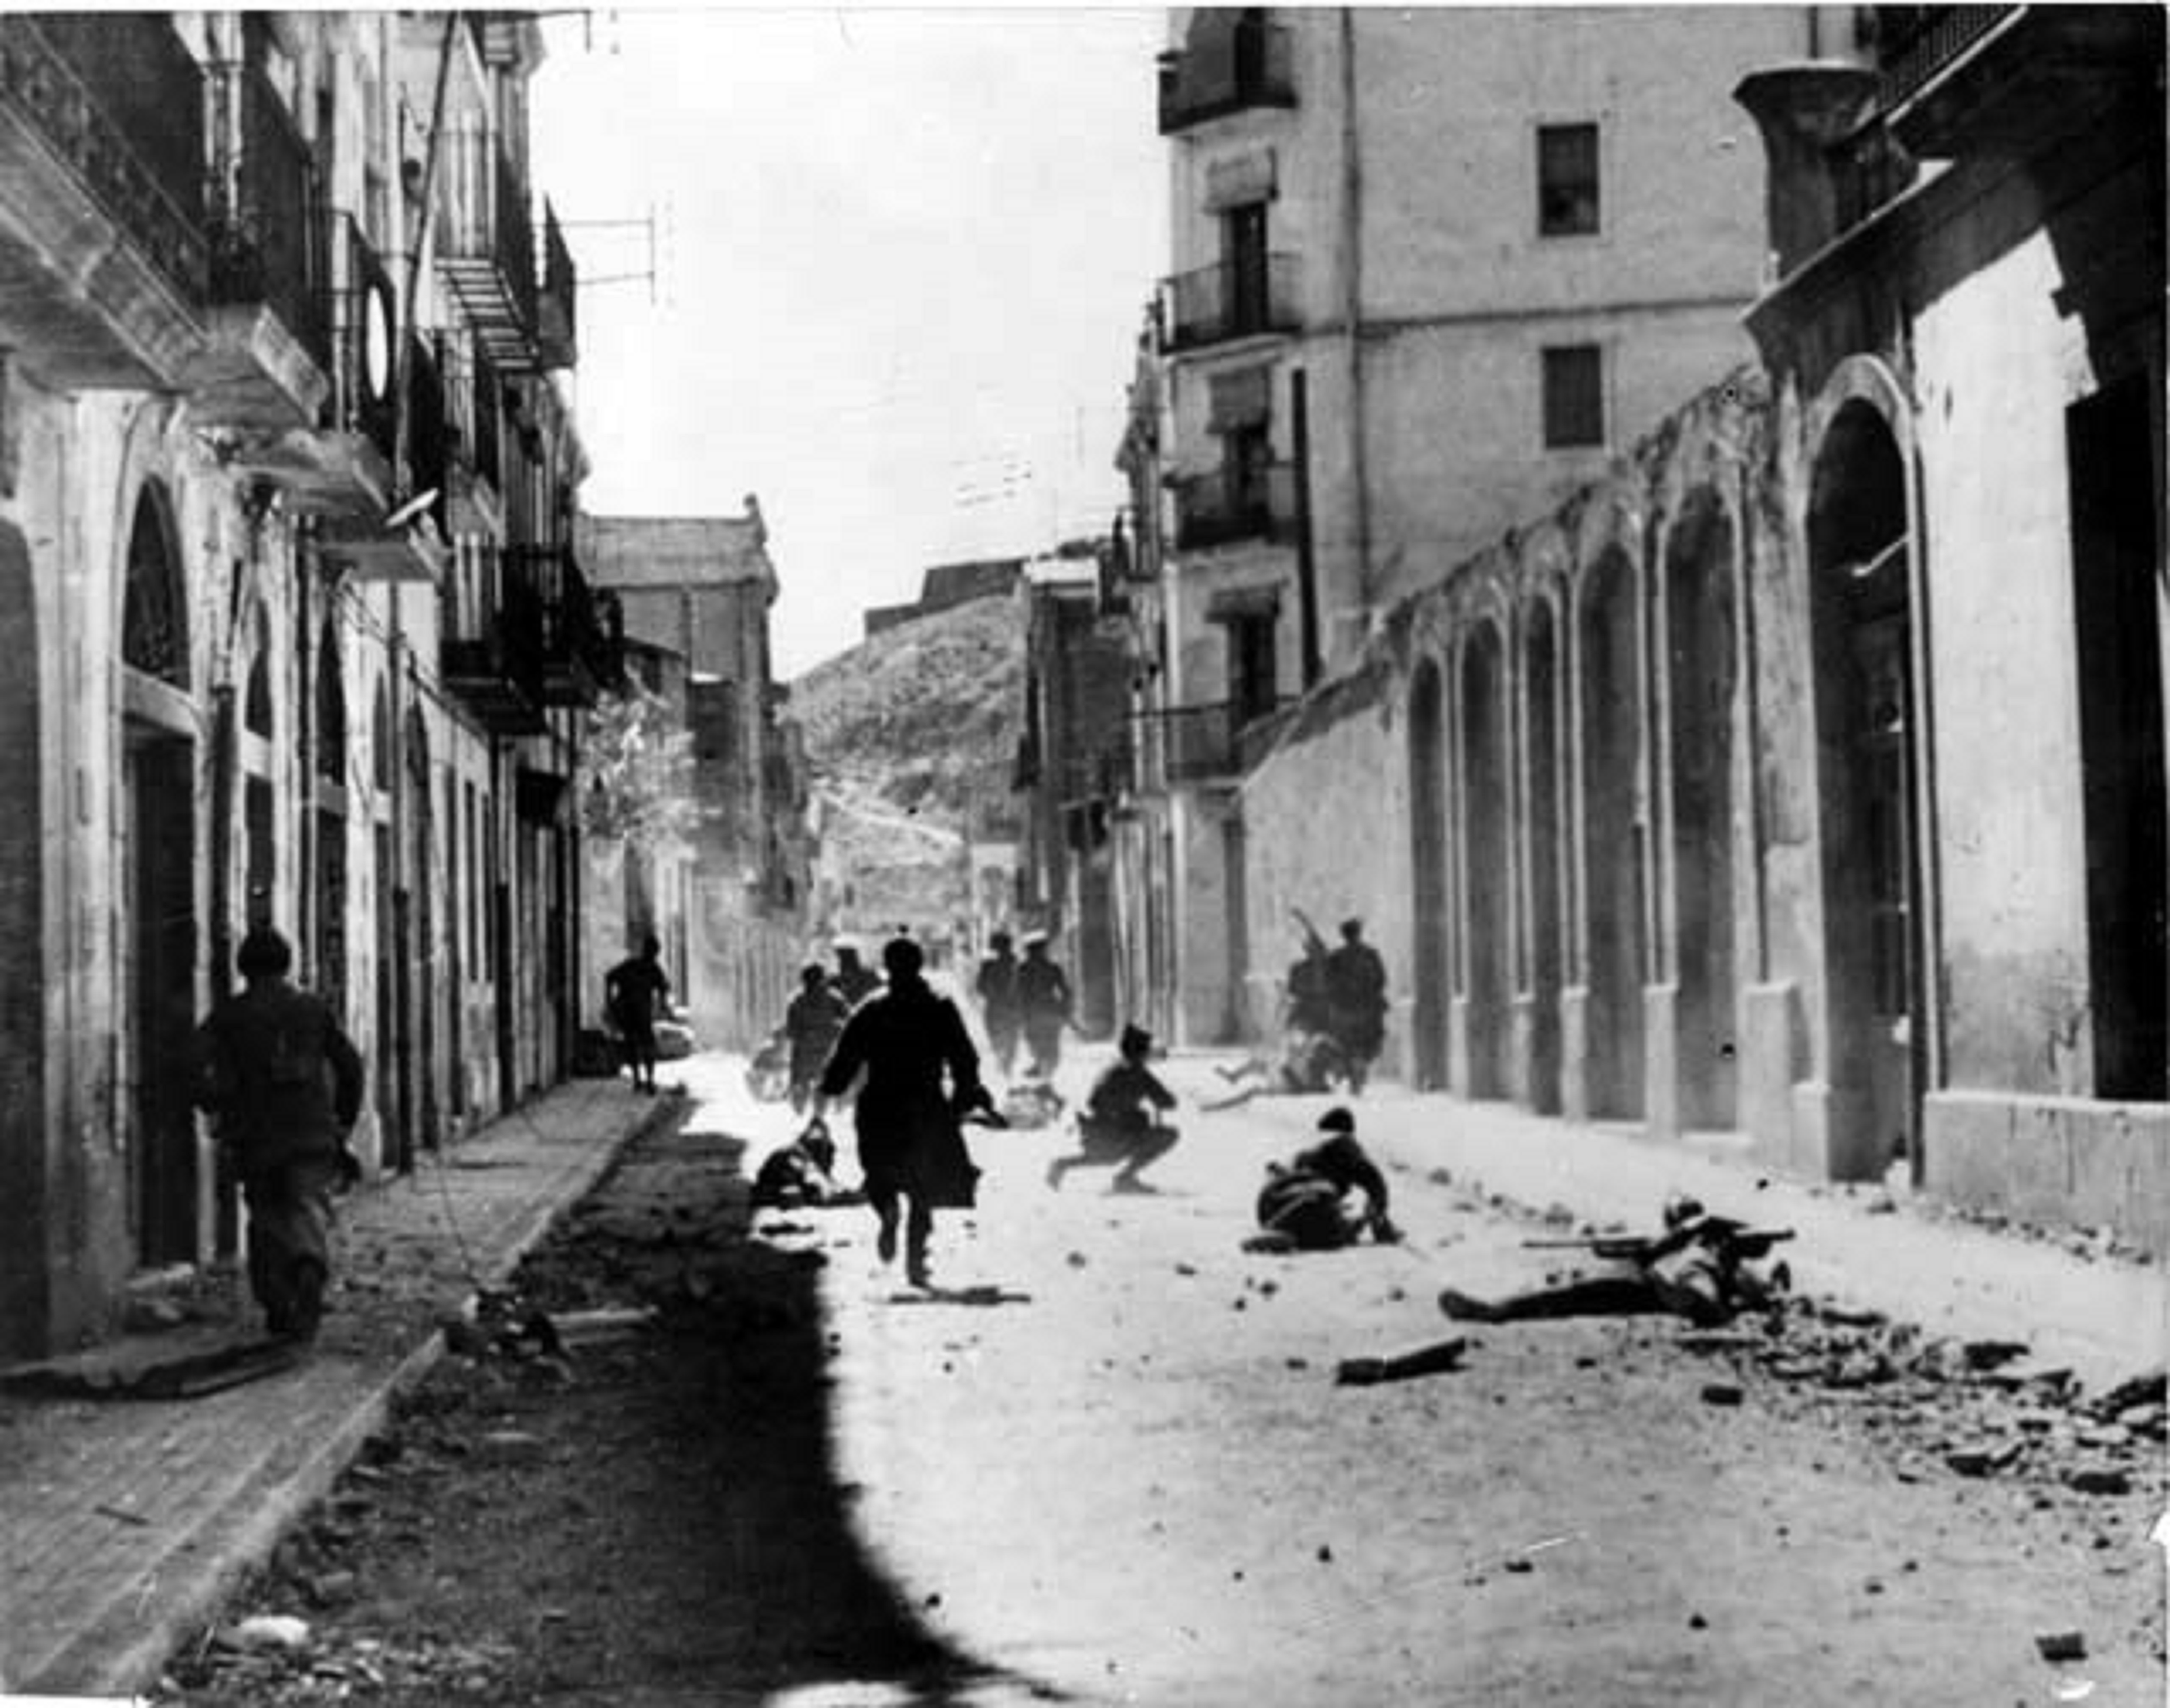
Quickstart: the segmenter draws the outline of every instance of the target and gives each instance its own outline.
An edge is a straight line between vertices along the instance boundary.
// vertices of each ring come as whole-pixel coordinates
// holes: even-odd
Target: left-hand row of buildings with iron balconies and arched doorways
[[[250,923],[375,1064],[373,1166],[564,1066],[614,659],[540,56],[495,15],[0,20],[7,1350],[237,1248],[187,1064]]]

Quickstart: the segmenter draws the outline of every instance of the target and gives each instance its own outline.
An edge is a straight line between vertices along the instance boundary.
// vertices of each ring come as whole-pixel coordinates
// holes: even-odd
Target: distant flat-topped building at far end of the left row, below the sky
[[[770,676],[777,570],[744,516],[582,516],[582,555],[636,642],[686,661],[692,932],[686,995],[703,1043],[757,1045],[790,997],[809,895],[805,752]]]

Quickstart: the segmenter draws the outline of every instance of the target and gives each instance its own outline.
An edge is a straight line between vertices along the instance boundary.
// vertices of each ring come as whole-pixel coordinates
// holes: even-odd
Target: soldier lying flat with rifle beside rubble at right
[[[1578,1277],[1556,1288],[1476,1298],[1447,1288],[1439,1309],[1460,1322],[1532,1322],[1562,1316],[1684,1316],[1714,1329],[1736,1311],[1766,1309],[1792,1285],[1786,1264],[1771,1261],[1771,1246],[1792,1229],[1753,1229],[1710,1216],[1695,1199],[1664,1205],[1664,1233],[1599,1235],[1591,1240],[1532,1240],[1541,1248],[1578,1248],[1608,1259],[1604,1274]]]

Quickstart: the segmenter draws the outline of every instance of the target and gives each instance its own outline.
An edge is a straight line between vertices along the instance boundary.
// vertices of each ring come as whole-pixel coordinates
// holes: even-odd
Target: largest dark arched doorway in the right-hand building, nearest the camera
[[[1884,414],[1840,405],[1808,501],[1829,1027],[1831,1166],[1914,1153],[1920,1014],[1914,921],[1912,603],[1905,460]]]

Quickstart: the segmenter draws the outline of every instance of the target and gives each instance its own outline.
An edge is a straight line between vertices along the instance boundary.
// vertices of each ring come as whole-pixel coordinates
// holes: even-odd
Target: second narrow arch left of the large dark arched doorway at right
[[[1643,763],[1634,568],[1606,551],[1582,587],[1584,1084],[1595,1118],[1643,1118]]]

